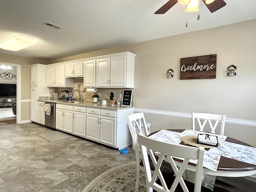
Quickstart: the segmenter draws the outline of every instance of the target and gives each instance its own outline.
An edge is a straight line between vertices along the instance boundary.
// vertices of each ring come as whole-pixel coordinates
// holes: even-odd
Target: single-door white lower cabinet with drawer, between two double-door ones
[[[74,106],[73,134],[85,137],[86,108]]]

